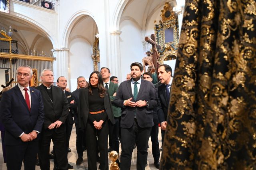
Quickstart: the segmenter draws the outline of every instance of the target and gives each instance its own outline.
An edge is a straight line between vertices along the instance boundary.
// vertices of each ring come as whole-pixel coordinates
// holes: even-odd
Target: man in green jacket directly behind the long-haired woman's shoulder
[[[104,87],[108,89],[108,94],[110,101],[113,102],[116,97],[116,92],[118,90],[118,84],[115,84],[110,81],[110,69],[107,67],[102,67],[100,73],[103,78]],[[119,117],[121,116],[120,107],[112,105],[112,111],[114,114],[115,124],[110,124],[109,126],[109,149],[108,152],[115,150],[119,154]],[[121,140],[120,140],[121,141]],[[119,160],[116,160],[116,163],[120,165]]]

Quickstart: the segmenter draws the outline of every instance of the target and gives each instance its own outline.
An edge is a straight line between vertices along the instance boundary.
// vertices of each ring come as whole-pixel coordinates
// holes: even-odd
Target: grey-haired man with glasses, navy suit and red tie
[[[5,127],[7,168],[34,170],[38,152],[38,133],[44,122],[44,106],[40,92],[29,87],[32,78],[30,66],[20,66],[18,85],[3,93],[0,118]]]

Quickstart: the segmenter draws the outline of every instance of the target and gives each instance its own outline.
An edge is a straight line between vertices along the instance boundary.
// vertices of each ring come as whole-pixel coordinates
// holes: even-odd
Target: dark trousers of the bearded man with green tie
[[[145,170],[145,162],[148,157],[148,139],[151,127],[139,127],[138,122],[134,121],[131,128],[121,128],[122,153],[121,153],[121,170],[130,170],[132,152],[134,145],[137,145],[137,170]]]

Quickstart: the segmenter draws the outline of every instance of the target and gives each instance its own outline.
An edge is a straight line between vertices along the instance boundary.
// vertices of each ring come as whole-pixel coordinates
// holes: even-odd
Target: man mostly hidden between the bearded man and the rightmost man
[[[152,78],[152,74],[151,72],[144,72],[143,74],[143,79],[152,82],[153,78]],[[156,90],[158,90],[156,88]],[[154,107],[153,109],[153,121],[154,121],[154,126],[152,126],[151,128],[151,133],[150,133],[150,138],[151,138],[151,142],[152,142],[152,154],[153,154],[153,158],[154,158],[154,165],[156,166],[156,168],[159,168],[160,166],[160,162],[159,162],[159,158],[160,158],[160,150],[159,150],[159,142],[158,142],[158,133],[159,133],[159,129],[158,129],[158,115],[157,115],[157,107]]]

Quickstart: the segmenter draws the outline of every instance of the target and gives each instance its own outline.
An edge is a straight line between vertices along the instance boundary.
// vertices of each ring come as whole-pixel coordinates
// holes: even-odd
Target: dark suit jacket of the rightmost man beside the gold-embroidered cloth
[[[167,101],[166,98],[166,88],[165,84],[161,84],[158,87],[158,100],[160,102],[160,107],[158,107],[158,119],[159,122],[162,123],[163,121],[166,121],[167,114],[168,114],[168,108],[169,108],[169,101]],[[171,93],[169,93],[170,95]]]

